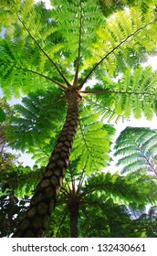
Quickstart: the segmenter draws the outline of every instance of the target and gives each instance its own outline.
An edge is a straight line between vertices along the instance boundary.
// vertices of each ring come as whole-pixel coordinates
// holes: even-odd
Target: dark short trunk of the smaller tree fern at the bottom
[[[71,238],[78,238],[78,208],[79,204],[75,200],[68,205]]]

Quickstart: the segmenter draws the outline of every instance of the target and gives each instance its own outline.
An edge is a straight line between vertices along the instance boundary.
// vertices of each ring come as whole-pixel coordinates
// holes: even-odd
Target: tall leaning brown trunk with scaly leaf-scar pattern
[[[42,238],[45,235],[50,215],[55,208],[58,193],[68,167],[68,158],[78,130],[78,105],[81,97],[77,90],[67,92],[68,113],[46,167],[46,172],[37,185],[25,219],[19,224],[14,238]]]

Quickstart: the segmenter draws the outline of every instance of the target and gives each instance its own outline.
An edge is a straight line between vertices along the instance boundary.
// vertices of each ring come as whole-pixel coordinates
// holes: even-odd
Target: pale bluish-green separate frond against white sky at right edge
[[[117,165],[123,165],[122,173],[144,169],[156,175],[156,130],[127,127],[120,133],[115,150],[115,155],[120,157]]]

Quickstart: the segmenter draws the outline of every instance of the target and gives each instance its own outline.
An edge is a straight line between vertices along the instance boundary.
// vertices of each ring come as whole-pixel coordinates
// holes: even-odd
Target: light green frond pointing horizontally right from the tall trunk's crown
[[[127,68],[117,82],[103,77],[84,93],[102,119],[129,118],[133,114],[136,119],[144,115],[152,120],[157,112],[157,71],[152,71],[151,67]]]

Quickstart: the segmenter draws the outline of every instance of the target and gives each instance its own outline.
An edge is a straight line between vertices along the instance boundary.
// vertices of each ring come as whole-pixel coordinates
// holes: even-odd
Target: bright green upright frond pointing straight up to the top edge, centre
[[[58,32],[65,40],[63,53],[68,53],[71,63],[76,58],[78,61],[82,57],[85,59],[89,54],[89,45],[96,39],[96,29],[104,21],[99,5],[91,0],[58,0],[52,1],[52,4],[52,17],[57,21]]]

